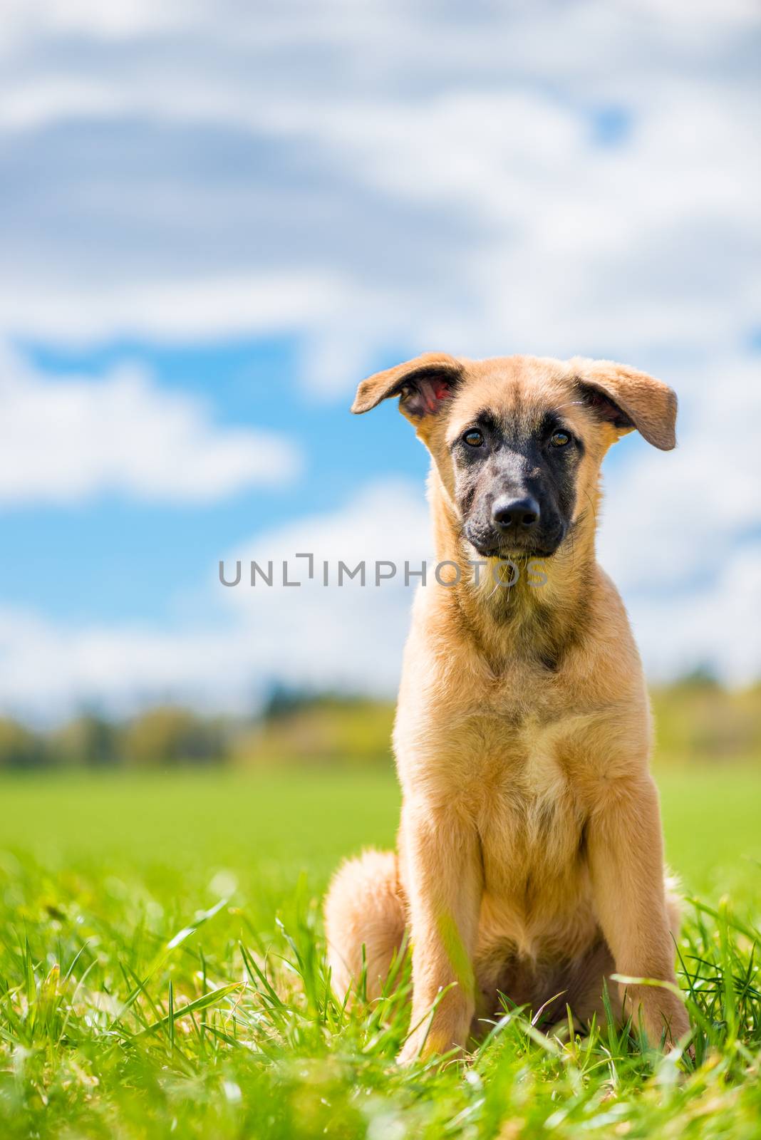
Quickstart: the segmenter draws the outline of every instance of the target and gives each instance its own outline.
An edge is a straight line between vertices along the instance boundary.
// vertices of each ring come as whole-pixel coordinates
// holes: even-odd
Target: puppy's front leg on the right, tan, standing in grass
[[[676,985],[674,945],[663,882],[661,817],[647,775],[608,782],[588,828],[597,915],[619,974]],[[687,1011],[664,986],[621,985],[624,1012],[657,1045],[689,1029]]]

